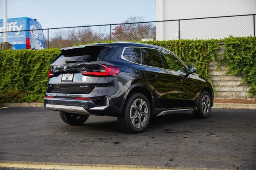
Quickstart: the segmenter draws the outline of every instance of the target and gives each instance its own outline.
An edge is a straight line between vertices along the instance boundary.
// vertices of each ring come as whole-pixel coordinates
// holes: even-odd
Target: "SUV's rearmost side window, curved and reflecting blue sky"
[[[126,48],[123,56],[128,61],[140,64],[140,48]]]

